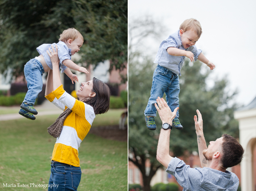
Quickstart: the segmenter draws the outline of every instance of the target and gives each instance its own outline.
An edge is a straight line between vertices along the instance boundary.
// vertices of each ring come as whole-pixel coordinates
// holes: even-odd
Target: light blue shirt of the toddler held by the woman
[[[36,48],[37,52],[40,55],[42,54],[44,56],[44,60],[45,60],[46,64],[49,66],[50,69],[52,69],[52,62],[51,62],[51,59],[48,56],[46,51],[48,50],[48,52],[49,52],[48,48],[50,48],[51,51],[52,51],[51,45],[53,45],[53,47],[56,51],[56,48],[55,48],[56,43],[42,44],[41,46]],[[63,73],[66,70],[67,67],[64,64],[62,64],[62,62],[66,59],[71,60],[71,49],[69,49],[67,47],[67,45],[62,41],[59,41],[57,43],[57,46],[58,46],[58,56],[59,56],[59,59],[60,59],[59,68],[61,69],[61,73]]]

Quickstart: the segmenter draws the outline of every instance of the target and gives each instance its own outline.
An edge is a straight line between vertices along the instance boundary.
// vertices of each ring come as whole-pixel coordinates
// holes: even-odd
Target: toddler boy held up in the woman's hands
[[[80,50],[83,42],[84,38],[81,33],[74,28],[69,28],[60,34],[59,42],[57,43],[58,56],[60,59],[59,68],[61,69],[61,73],[64,72],[71,79],[73,84],[76,81],[78,82],[78,78],[75,74],[72,74],[69,68],[79,72],[88,73],[84,67],[79,67],[71,61],[71,56]],[[55,47],[56,43],[53,43],[52,45]],[[52,51],[51,44],[43,44],[36,48],[36,50],[40,56],[31,59],[24,66],[28,92],[19,111],[19,114],[32,120],[36,119],[34,115],[38,113],[33,105],[35,104],[37,95],[42,91],[42,75],[50,69],[52,70],[52,63],[46,52],[47,50],[48,52]]]

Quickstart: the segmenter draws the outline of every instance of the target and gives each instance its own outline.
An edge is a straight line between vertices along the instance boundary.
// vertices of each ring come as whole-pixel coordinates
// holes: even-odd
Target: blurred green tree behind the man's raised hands
[[[136,55],[129,58],[129,151],[133,162],[143,176],[144,191],[150,191],[150,180],[161,164],[156,160],[156,148],[162,122],[156,117],[157,130],[146,127],[144,110],[150,97],[152,76],[155,66],[146,58]],[[142,60],[140,62],[140,60]],[[236,105],[230,105],[235,93],[227,93],[227,80],[215,80],[212,88],[207,87],[209,72],[202,73],[204,64],[185,62],[180,78],[180,121],[183,130],[173,129],[170,137],[170,150],[180,156],[185,150],[197,150],[193,116],[199,109],[204,121],[206,142],[219,138],[223,133],[238,137],[238,123],[233,118]],[[146,172],[145,162],[150,160],[150,171]]]

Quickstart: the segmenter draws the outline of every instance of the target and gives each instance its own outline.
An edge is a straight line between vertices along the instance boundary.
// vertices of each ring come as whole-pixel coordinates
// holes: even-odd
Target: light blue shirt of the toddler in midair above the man
[[[160,44],[156,59],[154,63],[159,64],[162,67],[165,67],[175,74],[178,74],[181,76],[180,70],[186,60],[185,56],[172,56],[167,53],[167,49],[169,47],[175,47],[177,49],[190,51],[194,54],[195,61],[197,61],[197,57],[202,52],[201,50],[197,50],[196,46],[190,46],[187,49],[185,49],[182,45],[182,42],[180,40],[180,34],[179,31],[176,31],[175,33],[171,34],[167,39],[163,40],[163,42]]]

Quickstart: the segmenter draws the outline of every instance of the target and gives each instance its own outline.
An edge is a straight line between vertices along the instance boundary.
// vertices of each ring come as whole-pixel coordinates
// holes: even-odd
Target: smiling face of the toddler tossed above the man
[[[186,32],[183,32],[183,30],[181,29],[179,33],[180,33],[180,39],[182,41],[182,45],[185,49],[195,45],[198,39],[200,38],[197,36],[196,32],[192,29],[189,29]]]

